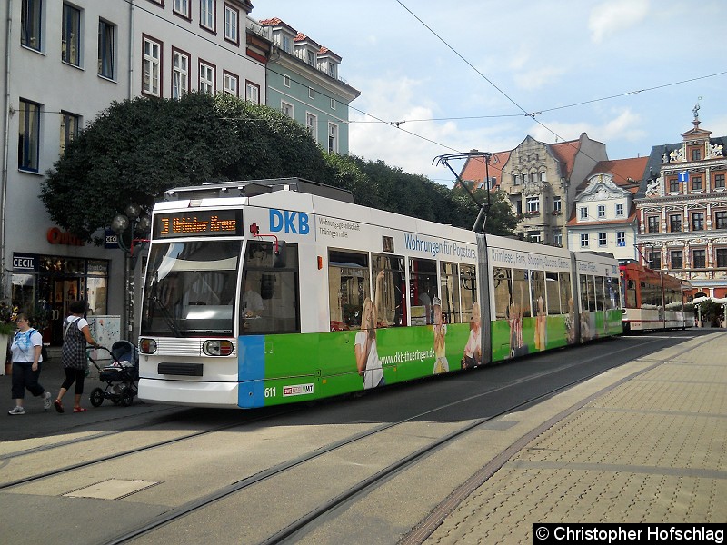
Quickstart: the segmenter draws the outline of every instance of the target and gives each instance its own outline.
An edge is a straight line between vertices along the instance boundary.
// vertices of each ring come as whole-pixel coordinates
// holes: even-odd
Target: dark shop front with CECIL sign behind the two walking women
[[[15,252],[13,305],[31,316],[45,314],[47,323],[35,327],[43,333],[44,342],[61,344],[71,302],[85,299],[89,317],[107,314],[109,266],[108,260]]]

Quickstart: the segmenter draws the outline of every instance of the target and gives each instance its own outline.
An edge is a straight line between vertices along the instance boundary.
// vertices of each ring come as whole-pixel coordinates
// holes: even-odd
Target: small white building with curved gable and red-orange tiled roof
[[[639,224],[634,193],[641,186],[647,157],[601,161],[578,188],[568,220],[568,247],[573,251],[612,253],[636,259]]]

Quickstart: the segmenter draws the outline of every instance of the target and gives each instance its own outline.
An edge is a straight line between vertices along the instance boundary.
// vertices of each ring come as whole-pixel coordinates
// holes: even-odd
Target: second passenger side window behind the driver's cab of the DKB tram
[[[373,272],[373,297],[379,303],[376,309],[377,327],[398,327],[406,325],[406,275],[403,270],[403,257],[397,255],[371,256]],[[383,271],[381,288],[377,278]],[[376,291],[381,289],[381,293]]]

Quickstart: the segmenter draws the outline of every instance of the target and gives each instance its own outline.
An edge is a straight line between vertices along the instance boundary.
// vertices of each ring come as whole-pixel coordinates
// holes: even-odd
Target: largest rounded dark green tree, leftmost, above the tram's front
[[[148,211],[170,187],[315,179],[324,168],[304,127],[271,108],[225,94],[134,98],[111,104],[66,146],[41,200],[55,223],[92,241],[128,203]]]

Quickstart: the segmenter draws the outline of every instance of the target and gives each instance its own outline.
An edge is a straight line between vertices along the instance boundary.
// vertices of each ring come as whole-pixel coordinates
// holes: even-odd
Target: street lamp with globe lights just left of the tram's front
[[[124,316],[123,321],[127,327],[127,336],[134,332],[134,275],[136,260],[139,254],[134,255],[134,246],[139,250],[148,242],[146,233],[152,226],[149,216],[142,212],[142,207],[131,203],[126,206],[125,213],[118,214],[111,222],[111,230],[116,233],[116,241],[119,248],[124,252]],[[136,236],[140,235],[141,238]],[[128,243],[124,236],[127,237]]]

